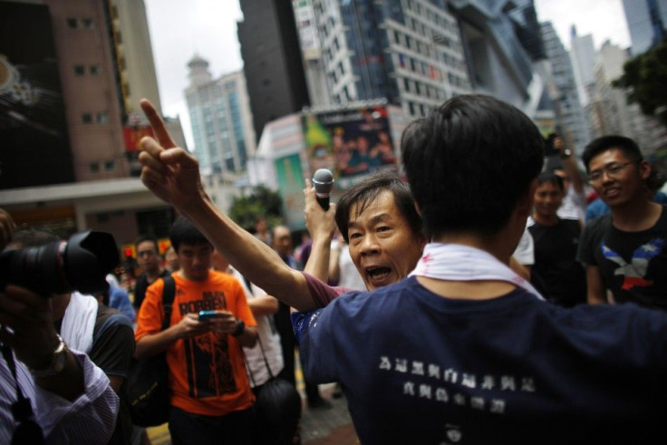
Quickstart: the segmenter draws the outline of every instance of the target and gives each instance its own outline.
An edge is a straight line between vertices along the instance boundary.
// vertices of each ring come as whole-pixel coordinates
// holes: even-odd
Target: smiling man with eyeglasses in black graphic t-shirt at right
[[[651,164],[623,136],[593,140],[582,159],[591,186],[611,208],[586,225],[579,243],[588,303],[667,309],[667,212],[652,202]],[[607,298],[607,290],[613,298]]]

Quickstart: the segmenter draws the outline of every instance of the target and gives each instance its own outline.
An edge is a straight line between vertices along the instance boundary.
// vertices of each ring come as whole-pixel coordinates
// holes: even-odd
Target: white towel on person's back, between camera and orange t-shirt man
[[[97,299],[92,295],[72,293],[60,327],[60,336],[71,349],[82,353],[91,352],[97,305]]]

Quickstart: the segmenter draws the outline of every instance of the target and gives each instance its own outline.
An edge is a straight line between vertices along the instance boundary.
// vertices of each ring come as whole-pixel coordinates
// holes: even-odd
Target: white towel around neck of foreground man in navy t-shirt
[[[460,244],[429,243],[410,276],[449,281],[506,281],[544,300],[536,288],[488,252]]]

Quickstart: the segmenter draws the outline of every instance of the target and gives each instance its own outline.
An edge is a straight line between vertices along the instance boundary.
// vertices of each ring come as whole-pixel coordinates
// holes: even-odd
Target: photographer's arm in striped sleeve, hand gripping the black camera
[[[7,285],[0,292],[0,324],[0,340],[14,351],[17,382],[34,400],[35,421],[47,443],[106,443],[120,401],[109,379],[85,354],[66,350],[63,370],[52,376],[33,380],[27,371],[47,368],[59,343],[51,299]]]

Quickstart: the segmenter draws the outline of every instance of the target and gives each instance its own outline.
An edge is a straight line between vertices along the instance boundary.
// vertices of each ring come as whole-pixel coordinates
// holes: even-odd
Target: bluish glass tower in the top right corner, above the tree
[[[667,35],[667,0],[623,0],[623,10],[633,56],[660,44]]]

